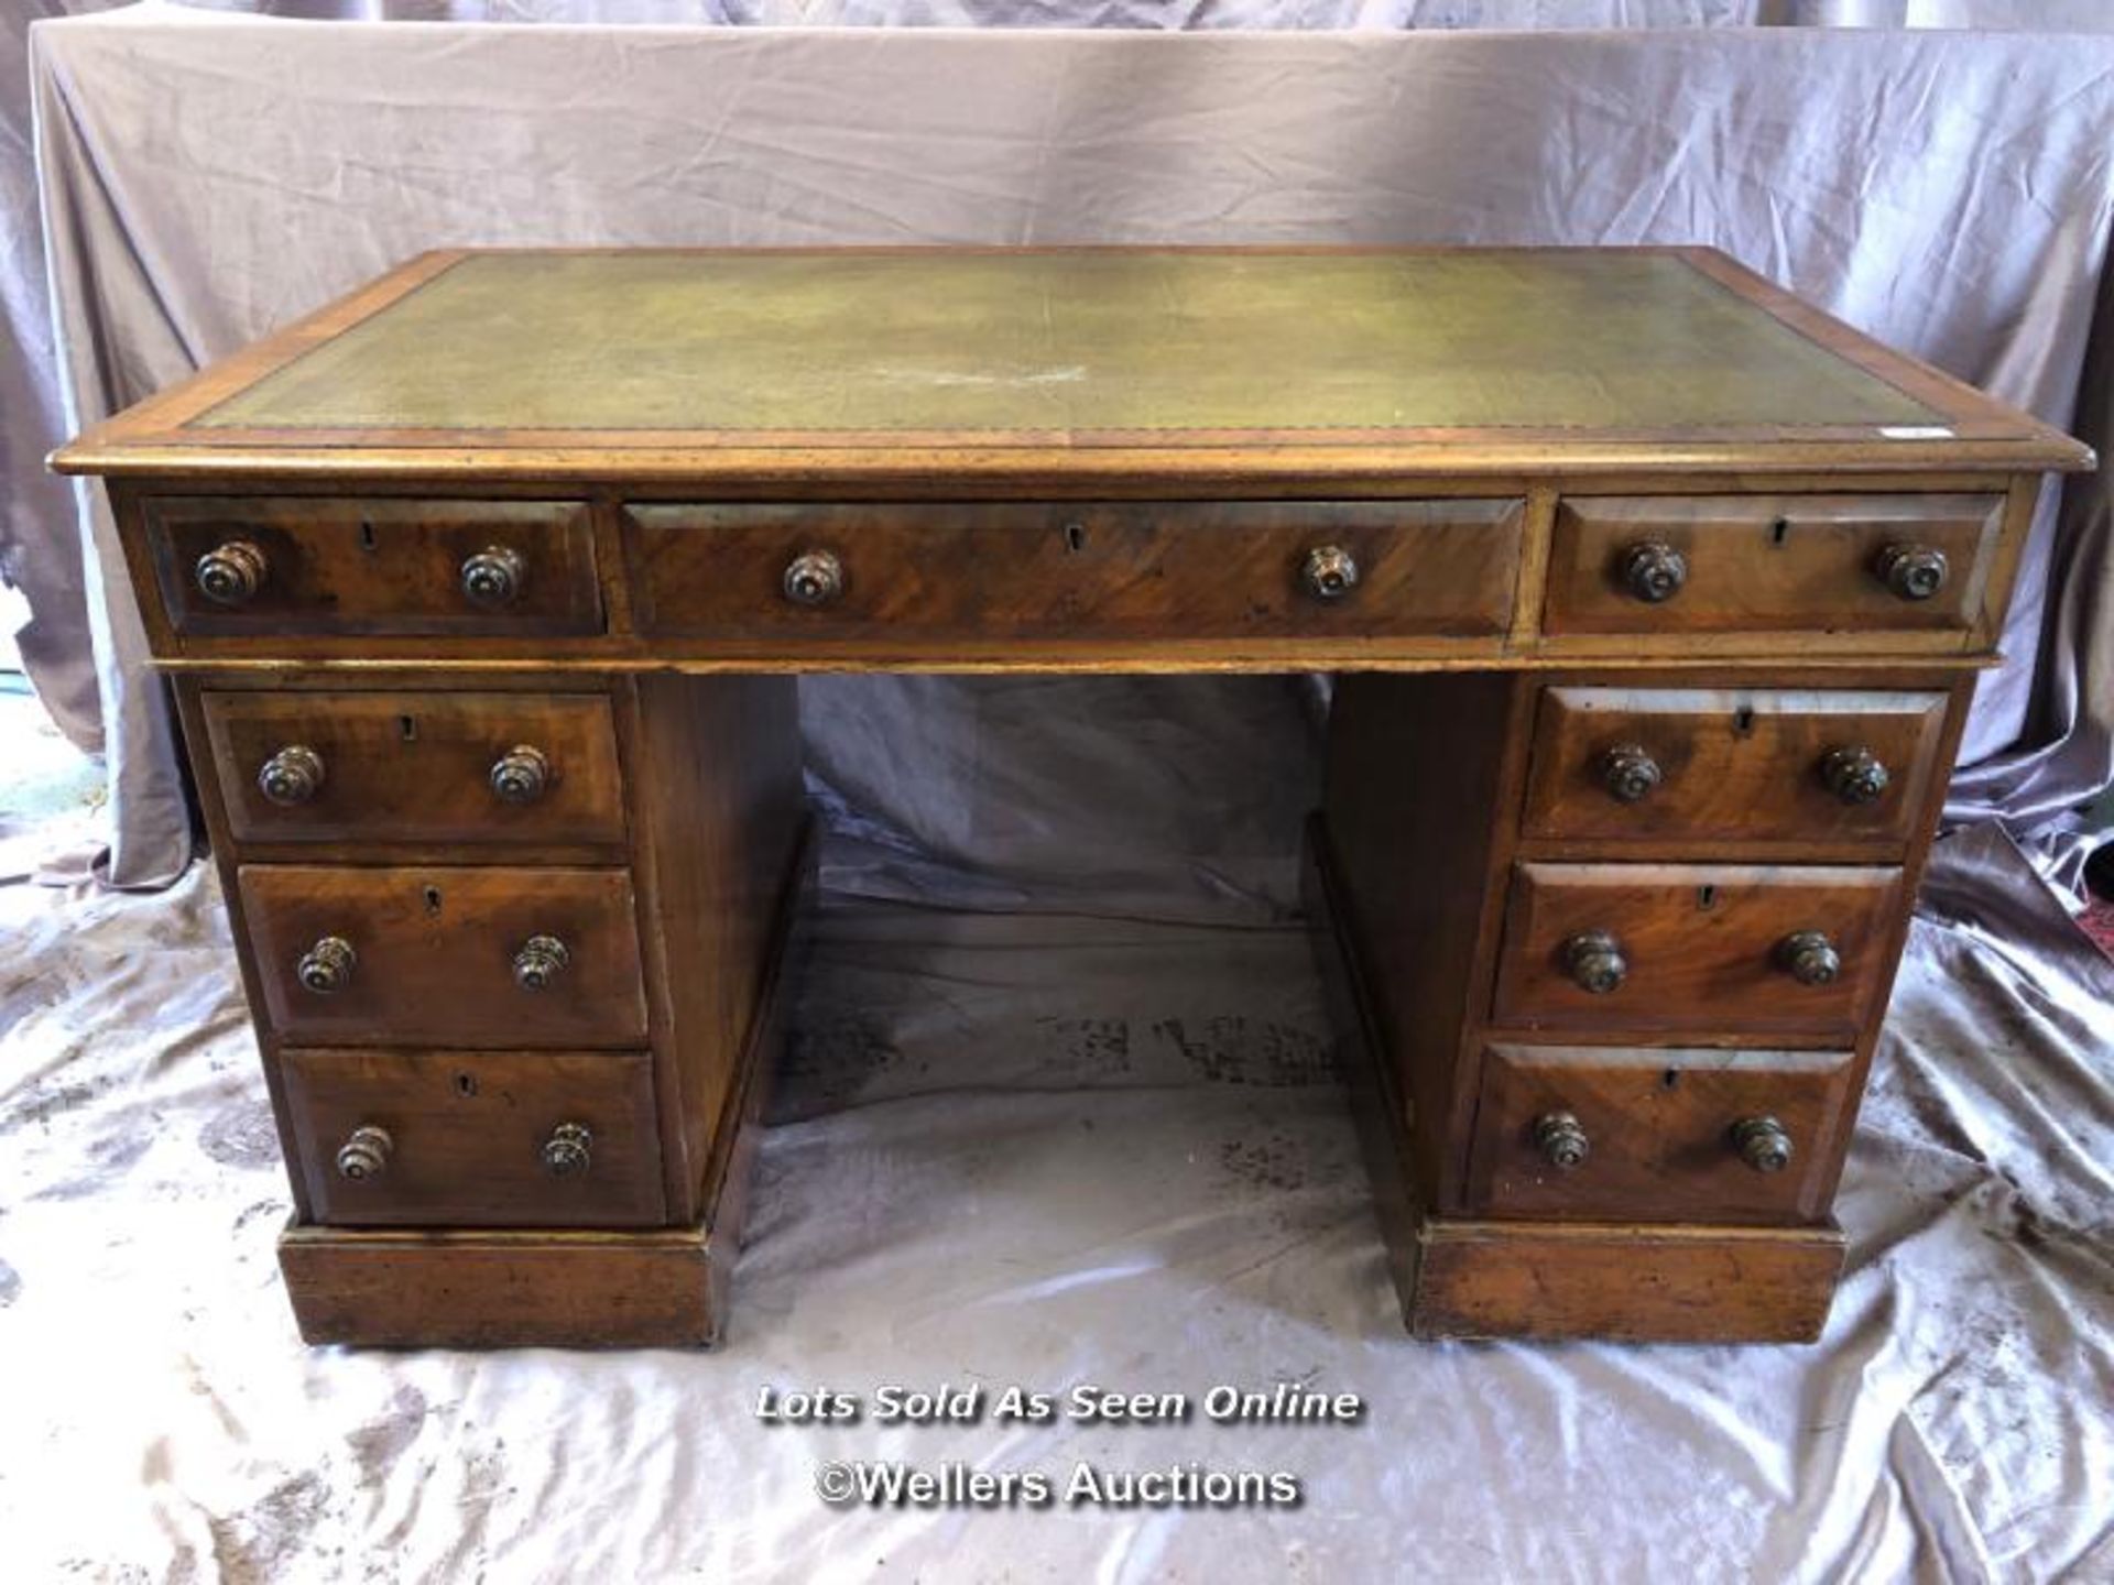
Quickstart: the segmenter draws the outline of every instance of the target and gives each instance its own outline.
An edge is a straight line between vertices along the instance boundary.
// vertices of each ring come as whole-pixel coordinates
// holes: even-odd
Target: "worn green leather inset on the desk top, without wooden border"
[[[254,429],[1932,425],[1653,254],[486,254],[199,418]]]

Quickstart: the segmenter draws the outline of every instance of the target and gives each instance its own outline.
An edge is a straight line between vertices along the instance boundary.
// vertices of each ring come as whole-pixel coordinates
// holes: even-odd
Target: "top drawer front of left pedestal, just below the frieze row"
[[[619,843],[600,693],[201,695],[237,841]]]

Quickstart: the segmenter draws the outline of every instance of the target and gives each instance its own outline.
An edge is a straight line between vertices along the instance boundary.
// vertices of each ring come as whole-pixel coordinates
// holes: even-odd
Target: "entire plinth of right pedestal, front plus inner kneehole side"
[[[1402,1314],[1418,1338],[1812,1342],[1829,1319],[1843,1236],[1816,1228],[1471,1222],[1425,1211],[1408,1112],[1364,991],[1319,820],[1306,913]]]

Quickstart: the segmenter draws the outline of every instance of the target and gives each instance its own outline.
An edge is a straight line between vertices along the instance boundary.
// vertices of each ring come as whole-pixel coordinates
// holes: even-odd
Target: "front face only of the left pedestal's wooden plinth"
[[[702,1228],[288,1228],[279,1270],[307,1342],[370,1348],[704,1348],[725,1287]]]

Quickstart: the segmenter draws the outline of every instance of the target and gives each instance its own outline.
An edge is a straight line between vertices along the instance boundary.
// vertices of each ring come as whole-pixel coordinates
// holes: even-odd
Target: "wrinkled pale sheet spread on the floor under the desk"
[[[1304,731],[1273,687],[1205,714]],[[1133,816],[1080,828],[1190,835],[1154,833],[1154,799],[1199,763],[1139,754]],[[1049,788],[1008,803],[1057,837]],[[1218,797],[1222,826],[1273,824]],[[1911,938],[1841,1196],[1852,1274],[1814,1348],[1406,1340],[1283,909],[1287,831],[1142,866],[1099,913],[1040,885],[1059,907],[941,907],[951,866],[888,847],[829,852],[712,1355],[304,1350],[205,869],[161,896],[0,888],[8,1577],[2114,1579],[2114,970],[2002,837],[1953,845],[1943,921]],[[763,1386],[1279,1378],[1368,1416],[753,1414]],[[1306,1500],[833,1511],[812,1490],[831,1458],[1281,1467]]]

